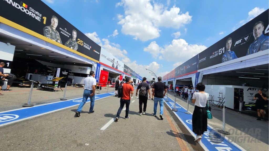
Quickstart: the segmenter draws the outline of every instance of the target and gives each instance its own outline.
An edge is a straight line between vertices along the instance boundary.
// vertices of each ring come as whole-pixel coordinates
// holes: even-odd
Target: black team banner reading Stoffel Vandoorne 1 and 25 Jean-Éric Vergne
[[[2,0],[0,5],[1,17],[99,61],[101,46],[42,1]]]

